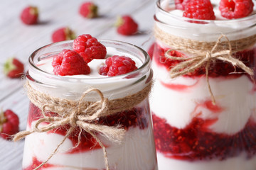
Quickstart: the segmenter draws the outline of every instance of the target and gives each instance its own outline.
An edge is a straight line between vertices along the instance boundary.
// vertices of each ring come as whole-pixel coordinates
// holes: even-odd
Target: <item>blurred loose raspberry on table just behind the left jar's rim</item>
[[[53,42],[60,42],[64,40],[74,40],[75,39],[75,33],[73,30],[70,30],[68,27],[59,28],[58,30],[55,30],[52,35]]]

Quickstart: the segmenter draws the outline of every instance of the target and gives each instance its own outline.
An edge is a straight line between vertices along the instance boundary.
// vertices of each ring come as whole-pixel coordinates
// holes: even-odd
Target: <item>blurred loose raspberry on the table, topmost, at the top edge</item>
[[[80,6],[79,13],[85,18],[97,17],[98,7],[93,2],[85,2]]]

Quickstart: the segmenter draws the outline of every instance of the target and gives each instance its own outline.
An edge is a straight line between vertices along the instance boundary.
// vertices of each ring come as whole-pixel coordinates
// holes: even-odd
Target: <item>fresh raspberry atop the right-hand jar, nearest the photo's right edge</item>
[[[252,0],[221,0],[219,9],[221,16],[233,19],[249,16],[253,11],[253,6]]]

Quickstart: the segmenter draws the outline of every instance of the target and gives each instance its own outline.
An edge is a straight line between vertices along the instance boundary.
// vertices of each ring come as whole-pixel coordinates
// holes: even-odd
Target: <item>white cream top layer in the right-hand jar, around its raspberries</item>
[[[192,23],[198,21],[182,17],[183,11],[175,9],[174,1],[161,1],[160,8],[156,8],[156,26],[166,33],[191,40],[213,42],[221,34],[228,36],[229,40],[238,40],[255,35],[256,6],[254,11],[245,18],[227,20],[220,16],[218,10],[219,0],[211,0],[216,20],[205,21],[204,24]],[[250,27],[252,26],[252,27]]]

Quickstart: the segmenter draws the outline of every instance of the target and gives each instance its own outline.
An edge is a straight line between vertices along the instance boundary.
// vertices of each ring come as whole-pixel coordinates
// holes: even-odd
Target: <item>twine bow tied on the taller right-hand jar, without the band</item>
[[[218,45],[220,45],[222,38],[225,38],[225,40],[227,40],[229,49],[216,51],[216,49],[218,49]],[[233,54],[232,47],[230,45],[230,41],[228,40],[228,38],[225,35],[220,35],[220,37],[218,38],[218,40],[215,43],[215,45],[213,46],[213,48],[210,51],[205,52],[203,54],[198,54],[196,56],[187,57],[187,58],[174,57],[174,56],[169,55],[169,52],[171,52],[173,50],[174,49],[167,50],[165,52],[165,57],[167,57],[171,60],[183,60],[183,62],[180,62],[179,64],[176,64],[175,67],[171,68],[171,70],[169,72],[171,75],[171,78],[176,78],[176,77],[182,76],[184,74],[194,72],[195,69],[205,66],[208,89],[210,91],[210,96],[212,98],[214,105],[215,105],[215,97],[213,96],[213,92],[210,88],[210,83],[209,83],[209,79],[208,79],[208,69],[210,67],[210,62],[214,62],[215,60],[222,60],[223,62],[230,62],[231,64],[233,64],[234,67],[240,67],[241,69],[243,69],[247,74],[250,75],[251,78],[254,75],[253,70],[250,69],[250,67],[247,67],[243,62],[241,62],[240,60],[238,60],[232,56],[232,54]],[[175,50],[179,50],[179,49],[175,49]]]

